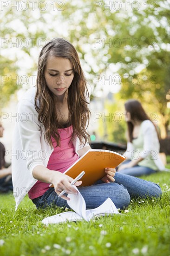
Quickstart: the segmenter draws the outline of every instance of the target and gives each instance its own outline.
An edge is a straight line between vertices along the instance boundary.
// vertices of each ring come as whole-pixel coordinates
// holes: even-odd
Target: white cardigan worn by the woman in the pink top
[[[16,122],[12,147],[12,180],[15,210],[28,191],[37,182],[33,177],[33,168],[37,165],[47,166],[54,150],[46,143],[45,128],[38,121],[34,107],[36,88],[29,89],[18,104],[19,121]],[[75,152],[84,148],[78,137],[73,141]],[[85,147],[89,146],[88,143]]]

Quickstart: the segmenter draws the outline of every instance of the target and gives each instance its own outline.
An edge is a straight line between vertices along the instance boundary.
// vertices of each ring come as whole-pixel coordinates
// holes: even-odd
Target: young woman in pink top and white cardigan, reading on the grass
[[[16,209],[26,193],[37,208],[68,207],[69,198],[58,195],[62,189],[77,193],[70,185],[73,179],[63,172],[90,149],[88,97],[73,45],[59,38],[48,42],[39,55],[36,87],[26,92],[18,106],[12,159]],[[161,196],[157,184],[106,168],[102,180],[79,187],[87,209],[98,207],[108,197],[123,209],[131,196]]]

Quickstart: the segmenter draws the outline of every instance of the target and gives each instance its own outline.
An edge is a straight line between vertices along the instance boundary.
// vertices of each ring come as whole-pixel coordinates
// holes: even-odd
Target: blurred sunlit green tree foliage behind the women
[[[150,111],[159,116],[161,132],[165,136],[169,115],[165,100],[169,90],[170,24],[167,1],[119,1],[120,6],[116,4],[117,1],[109,1],[110,6],[107,6],[106,1],[79,0],[63,2],[62,7],[57,1],[55,5],[54,1],[53,4],[50,1],[46,1],[46,4],[43,2],[40,6],[37,3],[38,7],[34,10],[30,4],[27,10],[10,10],[9,6],[4,8],[1,15],[1,37],[8,41],[18,39],[20,43],[18,48],[13,47],[16,52],[13,59],[7,54],[10,43],[3,45],[3,78],[6,75],[36,75],[38,54],[43,46],[43,41],[42,46],[39,45],[40,40],[66,38],[78,50],[92,91],[91,99],[98,90],[105,87],[103,81],[100,81],[99,86],[101,77],[108,79],[110,74],[109,89],[120,86],[116,98],[122,99],[122,102],[137,98],[144,106],[148,106],[153,101]],[[20,26],[11,26],[12,22],[20,22]],[[24,38],[28,41],[32,39],[32,43],[23,47],[21,42],[24,42]],[[31,67],[21,72],[21,64],[17,63],[19,56],[31,59]],[[116,76],[119,79],[115,80]],[[3,104],[21,87],[20,79],[18,84],[13,85],[9,80],[5,81],[1,89]],[[25,89],[29,87],[30,84],[27,84]]]

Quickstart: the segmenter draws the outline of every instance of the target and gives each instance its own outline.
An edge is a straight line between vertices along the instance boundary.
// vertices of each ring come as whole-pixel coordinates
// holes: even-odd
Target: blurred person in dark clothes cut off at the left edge
[[[0,123],[0,138],[3,137],[4,128]],[[7,193],[13,190],[12,176],[11,176],[11,165],[7,166],[5,162],[5,147],[0,142],[0,192]]]

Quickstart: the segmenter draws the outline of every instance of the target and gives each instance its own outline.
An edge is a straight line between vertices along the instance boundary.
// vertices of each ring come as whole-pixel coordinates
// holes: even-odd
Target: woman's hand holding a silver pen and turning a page
[[[68,175],[60,173],[58,171],[53,172],[52,184],[57,195],[59,195],[63,190],[65,190],[66,193],[78,194],[77,190],[74,189],[72,185],[70,185],[72,181],[73,179]],[[82,181],[78,181],[74,183],[74,185],[79,186],[81,185],[81,183]],[[70,198],[65,195],[61,195],[61,197],[65,200],[70,200]]]

